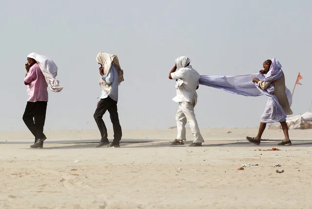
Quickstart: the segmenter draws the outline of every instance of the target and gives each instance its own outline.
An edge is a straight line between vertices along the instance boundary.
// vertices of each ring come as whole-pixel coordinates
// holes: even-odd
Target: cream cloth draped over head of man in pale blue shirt
[[[119,84],[122,83],[124,80],[124,70],[121,69],[118,57],[116,55],[108,54],[105,52],[99,52],[98,55],[96,56],[96,61],[104,67],[104,75],[108,76],[110,73],[110,67],[113,64],[118,72],[118,80]],[[102,89],[109,92],[111,91],[111,85],[106,84],[102,77],[99,81],[99,84],[101,85]]]

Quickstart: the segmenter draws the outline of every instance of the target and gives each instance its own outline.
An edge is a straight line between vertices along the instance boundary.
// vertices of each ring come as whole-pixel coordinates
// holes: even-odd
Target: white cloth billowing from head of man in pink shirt
[[[58,74],[58,66],[53,60],[34,52],[30,53],[27,57],[34,59],[39,64],[45,81],[53,92],[62,91],[63,87],[60,86],[60,82],[55,78]]]

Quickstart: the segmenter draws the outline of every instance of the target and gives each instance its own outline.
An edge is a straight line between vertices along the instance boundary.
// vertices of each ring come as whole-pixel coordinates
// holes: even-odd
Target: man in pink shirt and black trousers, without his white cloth
[[[26,76],[24,84],[27,86],[29,95],[23,121],[35,136],[35,143],[31,148],[42,148],[46,139],[43,133],[46,106],[48,102],[47,83],[42,74],[39,64],[32,58],[27,58],[25,64]]]

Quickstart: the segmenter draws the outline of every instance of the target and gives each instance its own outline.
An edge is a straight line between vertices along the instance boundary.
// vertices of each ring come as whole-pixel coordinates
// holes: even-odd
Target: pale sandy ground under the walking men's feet
[[[244,140],[257,129],[201,131],[204,146],[170,147],[176,129],[124,130],[121,148],[94,148],[96,130],[49,131],[43,149],[28,131],[0,132],[0,209],[312,208],[312,130],[282,147]]]

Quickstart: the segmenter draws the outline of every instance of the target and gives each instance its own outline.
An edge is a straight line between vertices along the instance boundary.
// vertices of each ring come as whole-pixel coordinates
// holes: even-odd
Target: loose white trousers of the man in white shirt
[[[179,140],[187,139],[185,125],[188,123],[194,136],[193,142],[202,143],[204,142],[204,139],[198,128],[198,124],[194,113],[194,106],[195,105],[190,102],[179,103],[179,109],[175,116],[178,130],[177,139]]]

